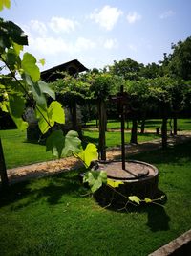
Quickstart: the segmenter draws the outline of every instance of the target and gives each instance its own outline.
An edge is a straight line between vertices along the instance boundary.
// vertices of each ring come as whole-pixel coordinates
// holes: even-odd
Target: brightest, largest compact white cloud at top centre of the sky
[[[104,6],[100,12],[96,9],[95,12],[90,15],[90,18],[95,20],[102,28],[111,31],[121,15],[122,11],[116,7]]]

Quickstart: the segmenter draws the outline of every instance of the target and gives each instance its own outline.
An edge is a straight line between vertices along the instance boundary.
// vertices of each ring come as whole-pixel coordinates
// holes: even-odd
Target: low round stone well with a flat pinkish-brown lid
[[[129,160],[125,162],[125,170],[121,167],[121,161],[101,162],[98,166],[98,170],[105,171],[108,178],[123,182],[116,190],[124,196],[138,196],[142,199],[159,196],[159,171],[151,164]],[[114,191],[106,185],[96,192],[96,198],[107,202],[112,197],[114,197]],[[115,194],[114,199],[120,201],[121,197],[119,194]]]

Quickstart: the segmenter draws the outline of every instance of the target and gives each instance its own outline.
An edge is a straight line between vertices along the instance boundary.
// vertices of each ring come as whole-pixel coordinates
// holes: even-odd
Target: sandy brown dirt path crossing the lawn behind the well
[[[190,132],[180,132],[179,135],[168,138],[168,145],[173,146],[177,143],[183,143],[186,140],[191,140]],[[132,155],[138,152],[154,151],[161,148],[161,139],[142,142],[138,145],[127,144],[126,154]],[[120,148],[112,148],[107,150],[107,160],[119,158],[121,154]],[[8,169],[8,177],[11,183],[23,181],[32,177],[40,177],[53,173],[66,172],[71,169],[81,166],[79,160],[74,157],[67,157],[59,160],[36,163],[28,166]]]

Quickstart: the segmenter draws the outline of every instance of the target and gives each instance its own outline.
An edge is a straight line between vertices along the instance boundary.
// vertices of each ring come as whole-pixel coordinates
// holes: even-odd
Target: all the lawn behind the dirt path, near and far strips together
[[[154,129],[158,127],[159,124],[160,120],[148,120],[146,123],[146,128]],[[90,125],[96,125],[96,121],[92,121]],[[130,125],[131,124],[129,123],[129,126]],[[191,129],[191,121],[189,119],[180,119],[178,121],[178,127],[180,129],[189,130]],[[110,120],[108,122],[108,128],[120,128],[119,121]],[[92,142],[98,146],[97,131],[84,130],[83,133],[84,142]],[[119,131],[106,132],[106,146],[108,148],[120,146],[120,136]],[[21,132],[17,129],[0,130],[0,137],[2,138],[7,168],[55,159],[50,151],[46,152],[45,146],[28,143],[26,141],[26,132]],[[157,138],[160,138],[160,135],[154,133],[138,134],[138,142],[149,141]],[[125,133],[125,142],[129,143],[129,141],[130,133]]]

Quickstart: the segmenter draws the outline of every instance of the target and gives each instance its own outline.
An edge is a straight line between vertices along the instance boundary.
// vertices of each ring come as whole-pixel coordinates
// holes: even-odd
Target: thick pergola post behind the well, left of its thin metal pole
[[[98,149],[100,153],[100,159],[106,160],[106,142],[105,142],[105,129],[106,129],[106,109],[105,102],[99,101],[98,103],[99,114],[99,141]]]

